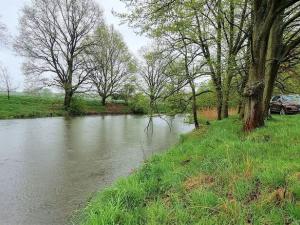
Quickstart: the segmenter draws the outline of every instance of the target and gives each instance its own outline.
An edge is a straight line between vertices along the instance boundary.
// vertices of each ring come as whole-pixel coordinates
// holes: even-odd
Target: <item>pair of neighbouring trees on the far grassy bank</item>
[[[66,110],[75,93],[89,91],[105,105],[135,72],[121,34],[105,24],[93,0],[32,0],[19,29],[14,47],[26,58],[29,86],[63,89]]]

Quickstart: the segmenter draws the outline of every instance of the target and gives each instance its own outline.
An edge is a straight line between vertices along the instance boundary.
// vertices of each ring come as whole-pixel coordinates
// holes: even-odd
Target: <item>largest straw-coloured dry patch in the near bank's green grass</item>
[[[212,186],[215,182],[215,178],[205,174],[199,174],[198,176],[188,178],[184,182],[184,188],[187,191],[199,188],[201,186]]]

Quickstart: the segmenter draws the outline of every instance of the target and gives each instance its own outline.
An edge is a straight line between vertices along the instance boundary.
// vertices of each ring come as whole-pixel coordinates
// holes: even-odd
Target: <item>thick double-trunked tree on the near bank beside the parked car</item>
[[[277,68],[274,69],[273,66],[278,67],[280,65],[280,60],[276,57],[278,56],[276,48],[281,46],[282,43],[280,40],[281,32],[285,28],[282,18],[291,7],[297,20],[300,15],[295,9],[297,9],[299,2],[299,0],[252,1],[251,62],[248,83],[244,92],[246,96],[245,131],[251,131],[264,125],[265,105],[267,103],[267,98],[264,99],[264,95],[271,96],[270,93],[272,93],[274,87],[274,77],[277,76],[278,72]],[[300,42],[296,38],[291,46],[294,47],[298,44]],[[288,47],[287,50],[289,51],[289,49]],[[267,68],[266,72],[268,60],[271,60],[273,65]],[[268,75],[270,78],[268,78]],[[267,83],[266,78],[269,80]]]

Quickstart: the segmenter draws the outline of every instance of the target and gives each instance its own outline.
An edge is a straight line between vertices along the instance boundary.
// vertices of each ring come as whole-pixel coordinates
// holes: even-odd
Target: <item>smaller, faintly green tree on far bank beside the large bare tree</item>
[[[125,82],[133,75],[133,57],[113,26],[99,26],[93,45],[87,51],[86,67],[92,71],[90,80],[106,104],[108,97],[120,94]]]

